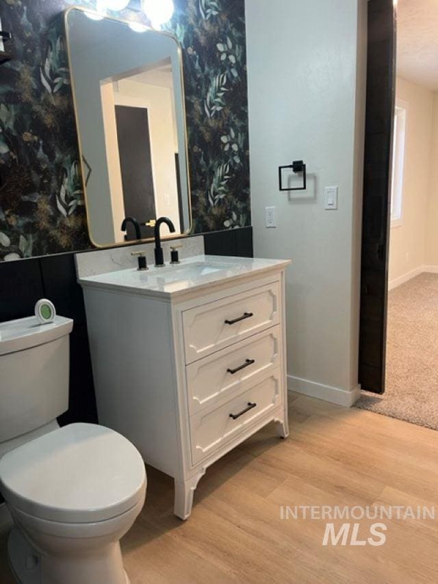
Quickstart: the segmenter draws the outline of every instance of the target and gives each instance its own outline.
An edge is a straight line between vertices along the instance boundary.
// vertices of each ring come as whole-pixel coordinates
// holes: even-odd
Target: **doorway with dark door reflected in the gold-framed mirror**
[[[138,220],[142,238],[153,237],[157,216],[168,216],[174,225],[183,225],[172,95],[168,59],[143,71],[127,71],[101,81],[115,231],[125,217]],[[127,239],[136,239],[132,225],[128,226]]]

